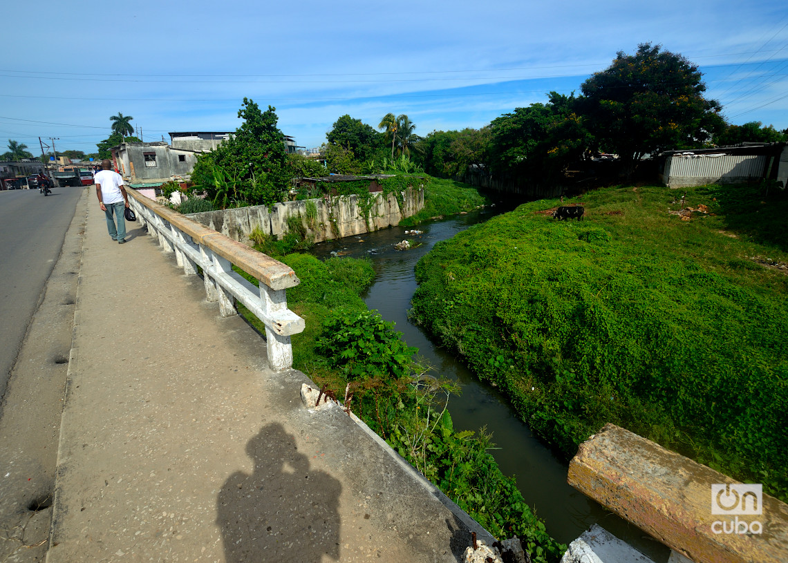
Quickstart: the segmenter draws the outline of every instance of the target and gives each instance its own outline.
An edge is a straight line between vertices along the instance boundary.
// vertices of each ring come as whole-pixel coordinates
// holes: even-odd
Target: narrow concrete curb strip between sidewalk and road
[[[69,230],[66,232],[65,236],[66,239],[69,237],[79,237],[80,243],[80,255],[77,257],[77,264],[79,265],[79,269],[77,269],[76,277],[76,298],[74,299],[74,319],[71,325],[71,350],[69,350],[69,369],[66,372],[65,376],[65,389],[63,391],[63,409],[65,410],[65,406],[69,402],[69,396],[72,393],[72,385],[74,383],[74,374],[78,371],[79,366],[79,350],[77,349],[76,343],[76,327],[78,326],[79,317],[80,317],[80,299],[82,298],[82,261],[84,255],[84,243],[85,243],[85,227],[87,225],[87,206],[90,202],[89,194],[87,191],[83,194],[80,202],[78,202],[77,209],[80,209],[79,206],[81,205],[82,213],[74,213],[74,218],[71,220],[71,224],[69,225]],[[59,261],[59,259],[58,259]],[[52,493],[52,521],[50,523],[50,533],[48,539],[48,547],[46,550],[46,557],[44,561],[49,561],[49,554],[50,549],[52,546],[57,544],[57,535],[58,529],[60,528],[60,521],[63,515],[63,508],[61,506],[61,484],[60,484],[60,476],[61,472],[63,471],[63,462],[65,461],[66,453],[63,450],[63,433],[65,432],[65,428],[63,428],[65,417],[61,415],[60,418],[60,428],[58,428],[58,455],[55,461],[55,475],[54,475],[54,491]]]

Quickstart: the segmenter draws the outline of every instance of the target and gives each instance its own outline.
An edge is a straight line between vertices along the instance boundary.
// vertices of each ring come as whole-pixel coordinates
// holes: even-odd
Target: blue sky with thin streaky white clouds
[[[244,96],[300,146],[338,117],[407,113],[426,135],[570,93],[619,50],[701,66],[730,123],[788,128],[788,2],[16,2],[3,9],[0,152],[95,152],[109,117],[143,140],[232,131]],[[10,24],[19,22],[19,24]],[[46,141],[48,143],[48,141]]]

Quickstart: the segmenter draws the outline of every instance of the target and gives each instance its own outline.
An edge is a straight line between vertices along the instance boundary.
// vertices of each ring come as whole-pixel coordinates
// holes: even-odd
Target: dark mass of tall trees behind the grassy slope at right
[[[432,131],[414,146],[414,160],[433,176],[474,174],[521,185],[555,185],[567,169],[582,170],[594,154],[615,153],[616,172],[634,170],[644,154],[663,150],[788,140],[754,121],[727,124],[705,98],[697,65],[643,43],[619,51],[575,96],[550,92],[545,103],[515,108],[481,129]],[[593,176],[593,175],[592,175]]]

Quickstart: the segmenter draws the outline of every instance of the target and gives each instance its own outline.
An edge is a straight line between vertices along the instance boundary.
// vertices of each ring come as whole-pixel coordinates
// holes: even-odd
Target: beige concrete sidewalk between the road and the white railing
[[[88,196],[47,561],[458,560],[472,522]]]

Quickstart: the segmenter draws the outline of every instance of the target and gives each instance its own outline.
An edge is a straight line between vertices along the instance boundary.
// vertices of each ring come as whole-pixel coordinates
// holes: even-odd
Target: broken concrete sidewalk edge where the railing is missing
[[[326,402],[322,402],[323,399],[321,398],[321,403],[315,406],[315,399],[317,393],[319,393],[320,387],[315,385],[312,380],[308,378],[306,374],[303,374],[307,377],[309,383],[302,383],[301,385],[301,401],[303,402],[304,406],[307,409],[310,409],[310,412],[318,413],[322,410],[333,409],[335,406],[341,409],[344,409],[344,406],[341,402],[335,401],[332,398],[328,398]],[[325,397],[325,394],[323,395]],[[436,487],[429,479],[422,475],[421,472],[418,472],[410,462],[407,461],[404,457],[389,446],[385,439],[382,439],[380,435],[377,435],[377,432],[374,432],[372,428],[366,425],[366,423],[361,420],[359,417],[355,415],[352,411],[348,412],[348,416],[355,422],[355,424],[365,432],[366,435],[369,435],[371,439],[380,446],[381,450],[383,450],[389,457],[392,458],[396,462],[397,465],[400,465],[408,476],[411,477],[416,483],[418,483],[422,488],[424,488],[429,494],[432,494],[433,497],[437,498],[444,506],[451,512],[457,519],[459,519],[465,526],[468,528],[470,532],[476,532],[478,539],[484,540],[485,543],[488,545],[492,545],[493,542],[496,541],[496,538],[485,528],[481,527],[476,520],[470,517],[470,514],[466,513],[465,510],[461,509],[457,504],[452,501],[451,498],[448,498],[443,491],[440,491],[438,487]]]

